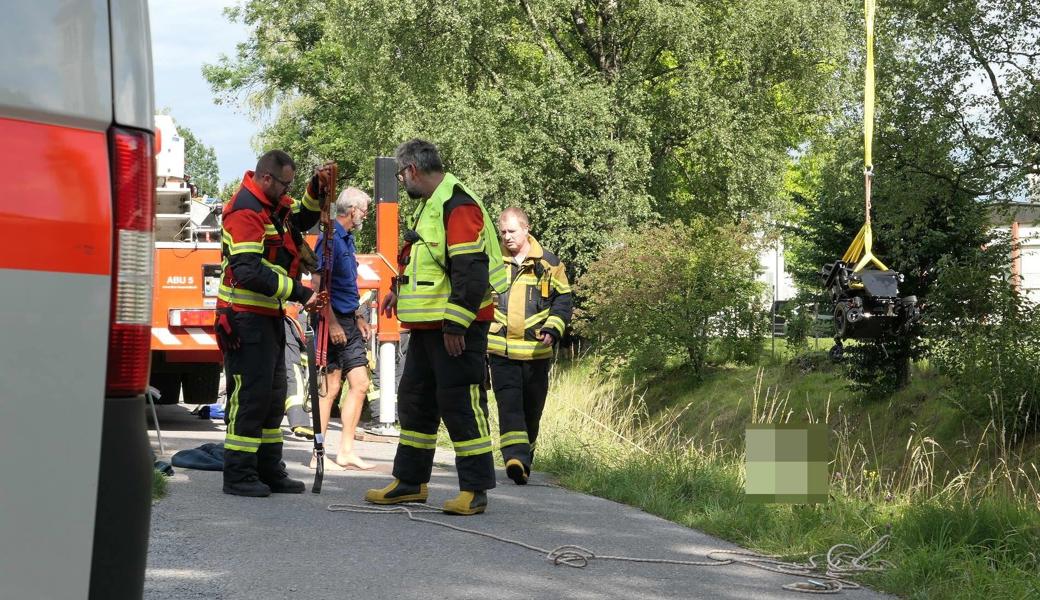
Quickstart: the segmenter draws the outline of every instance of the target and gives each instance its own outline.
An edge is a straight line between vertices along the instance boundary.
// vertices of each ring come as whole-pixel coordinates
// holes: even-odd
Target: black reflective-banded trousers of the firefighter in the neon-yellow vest
[[[440,419],[451,437],[459,489],[495,487],[488,393],[485,388],[488,323],[466,330],[466,349],[448,356],[440,330],[413,330],[397,389],[400,443],[393,476],[409,484],[430,481]]]

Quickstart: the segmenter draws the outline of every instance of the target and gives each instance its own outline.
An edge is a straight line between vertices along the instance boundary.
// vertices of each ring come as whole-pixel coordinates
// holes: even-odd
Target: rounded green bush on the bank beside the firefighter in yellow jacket
[[[769,327],[757,246],[749,230],[702,218],[625,232],[578,282],[578,331],[628,366],[755,361]]]

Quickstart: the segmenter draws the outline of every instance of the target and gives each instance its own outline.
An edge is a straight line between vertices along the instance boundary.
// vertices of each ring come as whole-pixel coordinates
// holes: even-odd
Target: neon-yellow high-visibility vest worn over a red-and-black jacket
[[[479,238],[468,243],[447,245],[444,228],[444,205],[461,189],[480,207],[484,229]],[[479,309],[491,306],[492,290],[505,289],[505,268],[502,265],[498,234],[484,204],[450,173],[444,174],[428,200],[416,207],[410,227],[418,234],[409,251],[409,261],[397,288],[397,318],[402,323],[449,321],[468,328]],[[451,277],[448,259],[465,254],[484,253],[488,257],[488,288],[476,310],[451,298]]]

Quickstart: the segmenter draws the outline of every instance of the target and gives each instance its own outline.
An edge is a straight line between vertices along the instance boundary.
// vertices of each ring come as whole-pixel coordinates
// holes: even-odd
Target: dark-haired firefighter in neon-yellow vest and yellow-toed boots
[[[494,318],[492,290],[505,269],[488,211],[462,182],[444,172],[437,147],[412,139],[397,147],[398,181],[418,200],[399,257],[396,293],[383,298],[411,330],[397,389],[400,441],[386,488],[369,490],[376,504],[424,502],[440,419],[451,437],[460,493],[444,504],[453,515],[483,513],[495,487],[485,355]]]

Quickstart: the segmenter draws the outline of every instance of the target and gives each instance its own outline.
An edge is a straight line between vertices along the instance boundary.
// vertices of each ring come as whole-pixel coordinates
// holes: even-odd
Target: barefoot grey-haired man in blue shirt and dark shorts
[[[329,370],[322,387],[324,393],[318,397],[322,436],[329,431],[332,403],[339,398],[344,374],[349,385],[346,399],[340,407],[343,433],[334,461],[342,469],[373,467],[354,452],[354,429],[358,426],[365,393],[368,391],[368,357],[365,354],[365,342],[370,335],[365,312],[360,306],[361,295],[358,293],[358,258],[354,232],[361,230],[368,215],[369,202],[368,194],[357,187],[347,187],[336,199],[329,304],[322,309],[329,322],[331,342]],[[323,244],[328,241],[322,235],[315,247],[318,256],[318,272],[323,266]],[[315,273],[312,283],[314,289],[318,289],[320,283],[321,277]],[[312,316],[311,327],[317,329],[316,314]],[[312,468],[316,466],[315,461],[316,459],[311,459]]]

